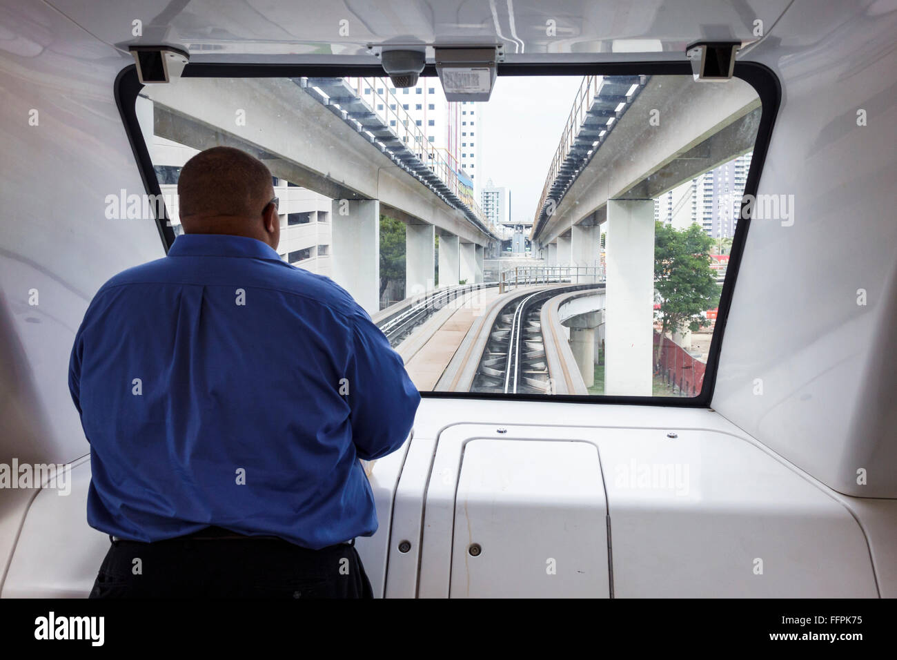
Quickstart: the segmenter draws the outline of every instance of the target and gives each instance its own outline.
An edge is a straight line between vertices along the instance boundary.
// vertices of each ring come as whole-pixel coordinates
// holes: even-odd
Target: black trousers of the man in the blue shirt
[[[353,545],[282,539],[112,541],[90,598],[372,598]]]

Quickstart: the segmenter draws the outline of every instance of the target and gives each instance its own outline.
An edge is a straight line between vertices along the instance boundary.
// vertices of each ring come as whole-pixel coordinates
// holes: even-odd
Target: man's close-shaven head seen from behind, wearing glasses
[[[267,242],[280,239],[271,172],[231,146],[196,154],[178,178],[180,221],[186,233],[230,233]]]

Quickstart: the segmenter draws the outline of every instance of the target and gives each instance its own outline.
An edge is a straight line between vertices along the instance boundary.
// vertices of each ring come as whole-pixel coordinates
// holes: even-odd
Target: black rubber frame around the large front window
[[[642,62],[597,62],[597,63],[550,63],[526,64],[501,63],[497,66],[497,75],[501,76],[536,76],[536,75],[692,75],[692,64],[687,59],[673,61]],[[240,63],[194,63],[184,67],[182,77],[222,77],[222,78],[298,78],[298,77],[383,77],[381,66],[360,66],[344,64],[321,65],[282,65],[282,64],[240,64]],[[435,65],[424,67],[421,76],[436,76]],[[762,114],[757,136],[753,145],[751,166],[745,180],[744,197],[755,197],[769,152],[771,136],[775,121],[779,114],[781,101],[781,84],[779,78],[768,66],[756,62],[736,61],[733,71],[736,77],[750,84],[760,98]],[[118,72],[113,85],[118,114],[122,119],[128,143],[135,157],[137,170],[144,182],[144,189],[149,195],[161,195],[159,181],[153,170],[149,149],[137,121],[136,99],[144,85],[137,79],[136,66],[130,64]],[[745,201],[742,200],[742,208]],[[168,225],[169,217],[163,208],[162,216],[156,218],[162,247],[168,253],[175,240],[172,227]],[[421,392],[424,398],[434,399],[475,399],[475,400],[534,400],[564,403],[588,403],[597,406],[640,405],[666,408],[709,408],[716,389],[719,356],[726,333],[728,313],[732,306],[732,298],[745,251],[747,233],[750,231],[751,219],[739,218],[732,247],[726,278],[723,281],[719,296],[717,321],[710,341],[710,351],[701,392],[694,397],[682,396],[623,396],[616,394],[571,395],[571,394],[503,394],[483,392]]]

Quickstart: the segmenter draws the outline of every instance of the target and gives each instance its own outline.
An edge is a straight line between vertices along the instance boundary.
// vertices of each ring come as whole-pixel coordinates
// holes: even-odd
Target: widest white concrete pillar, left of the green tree
[[[650,396],[654,202],[607,202],[605,394]]]

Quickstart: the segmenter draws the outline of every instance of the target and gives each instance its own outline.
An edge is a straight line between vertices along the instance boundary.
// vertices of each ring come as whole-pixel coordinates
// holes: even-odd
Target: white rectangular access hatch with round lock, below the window
[[[609,597],[606,515],[594,444],[468,442],[450,597]]]

